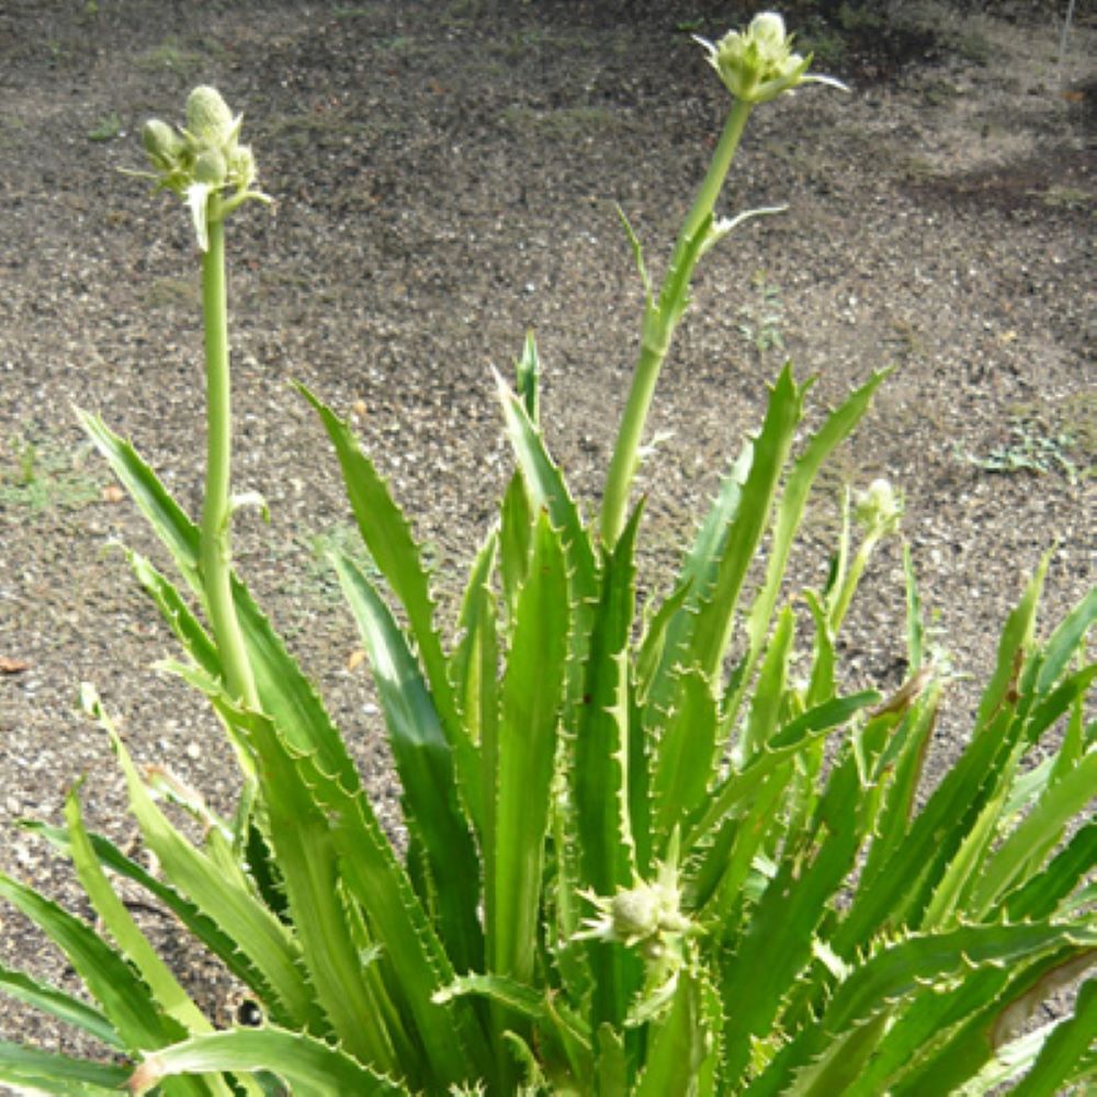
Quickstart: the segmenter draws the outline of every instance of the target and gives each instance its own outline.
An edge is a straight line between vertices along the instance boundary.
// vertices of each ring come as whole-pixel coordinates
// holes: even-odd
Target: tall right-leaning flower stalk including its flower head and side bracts
[[[709,170],[675,244],[658,299],[652,295],[640,245],[630,230],[644,280],[646,302],[640,357],[602,495],[601,534],[607,545],[615,544],[624,529],[629,495],[640,466],[641,441],[655,385],[675,328],[686,310],[690,280],[698,260],[746,217],[778,212],[776,208],[755,210],[730,220],[715,220],[716,200],[731,170],[747,118],[759,103],[769,102],[800,83],[837,82],[807,75],[811,57],[801,57],[792,52],[792,36],[785,33],[784,21],[772,12],[756,15],[746,31],[733,31],[719,43],[703,38],[698,41],[708,49],[709,63],[735,98]]]

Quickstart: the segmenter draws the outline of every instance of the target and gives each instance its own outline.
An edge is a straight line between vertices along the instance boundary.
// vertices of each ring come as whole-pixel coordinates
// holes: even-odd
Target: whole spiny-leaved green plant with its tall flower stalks
[[[185,200],[202,252],[202,521],[127,442],[92,416],[83,423],[174,562],[177,580],[131,555],[184,653],[167,669],[208,699],[242,793],[233,818],[185,799],[204,835],[192,842],[84,688],[158,868],[90,834],[78,789],[63,827],[29,824],[71,858],[94,918],[10,877],[0,892],[65,952],[89,997],[12,970],[0,983],[103,1054],[4,1044],[0,1079],[56,1094],[874,1097],[1003,1083],[1052,1094],[1097,1076],[1093,980],[1073,1011],[1026,1027],[1097,959],[1097,826],[1085,814],[1097,788],[1086,708],[1097,667],[1085,661],[1097,593],[1038,641],[1038,570],[966,747],[927,790],[949,675],[925,640],[908,558],[906,683],[891,697],[846,691],[837,644],[873,547],[897,532],[901,497],[878,482],[848,501],[823,589],[793,597],[783,581],[816,475],[881,375],[801,437],[807,384],[781,371],[679,573],[637,620],[643,502],[632,506],[631,487],[659,366],[694,265],[740,219],[714,211],[750,112],[813,79],[773,14],[704,46],[734,98],[657,293],[626,226],[646,305],[597,524],[545,449],[530,339],[516,388],[499,386],[517,471],[456,627],[443,631],[387,485],[302,391],[383,576],[335,557],[384,708],[405,855],[231,568],[224,222],[260,196],[253,159],[212,89],[192,94],[182,132],[149,124],[154,174]],[[259,1027],[214,1030],[120,883],[145,889],[219,959]]]

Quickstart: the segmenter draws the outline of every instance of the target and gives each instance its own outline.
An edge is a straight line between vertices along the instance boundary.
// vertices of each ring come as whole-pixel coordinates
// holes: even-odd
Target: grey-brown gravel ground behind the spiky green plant
[[[1076,13],[1060,64],[1065,4],[818,13],[836,8],[787,11],[852,93],[808,89],[756,113],[724,205],[789,210],[706,258],[664,373],[644,583],[669,574],[782,354],[817,376],[815,417],[895,365],[825,479],[794,572],[822,581],[844,484],[902,487],[935,638],[971,676],[941,723],[947,759],[1041,555],[1045,625],[1094,581],[1097,19]],[[683,31],[715,37],[748,15],[702,0],[0,3],[0,866],[84,909],[13,826],[58,822],[81,776],[90,823],[134,836],[105,738],[76,711],[81,681],[140,760],[222,808],[235,789],[208,715],[151,669],[170,638],[108,550],[162,554],[71,411],[102,412],[196,510],[196,264],[178,203],[115,170],[142,167],[142,122],[177,121],[191,87],[217,84],[278,200],[229,231],[236,486],[271,510],[269,527],[241,514],[238,564],[392,818],[376,709],[323,564],[351,544],[349,513],[289,382],[353,419],[448,610],[510,467],[490,366],[509,372],[527,329],[550,446],[592,512],[641,303],[613,206],[660,270],[726,105]],[[851,619],[848,681],[902,679],[902,614],[896,543]],[[160,936],[178,950],[170,927]],[[8,909],[0,962],[71,985]],[[180,962],[227,1008],[213,973]],[[65,1044],[0,1002],[13,1038]]]

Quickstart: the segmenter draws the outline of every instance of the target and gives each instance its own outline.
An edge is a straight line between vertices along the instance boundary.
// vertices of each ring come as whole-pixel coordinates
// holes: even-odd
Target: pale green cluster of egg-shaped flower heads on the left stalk
[[[172,129],[152,118],[145,123],[142,144],[159,186],[178,194],[190,207],[199,247],[208,247],[208,222],[222,219],[255,199],[270,202],[252,189],[256,160],[239,144],[240,115],[234,117],[216,88],[201,86],[186,99],[186,125]]]

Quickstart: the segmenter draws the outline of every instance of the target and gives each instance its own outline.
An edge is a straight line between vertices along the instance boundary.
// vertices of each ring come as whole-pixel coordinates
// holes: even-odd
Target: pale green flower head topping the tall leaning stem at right
[[[792,38],[777,12],[764,11],[745,31],[730,31],[716,43],[697,41],[727,90],[746,103],[768,103],[804,82],[842,87],[828,77],[808,76],[812,58],[794,53]]]

